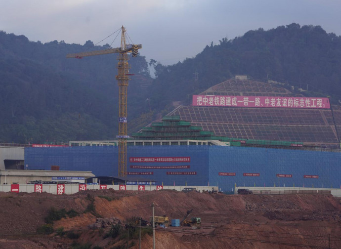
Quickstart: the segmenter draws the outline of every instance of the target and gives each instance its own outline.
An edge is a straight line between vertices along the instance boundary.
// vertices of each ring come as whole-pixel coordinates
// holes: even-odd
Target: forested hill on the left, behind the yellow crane
[[[42,143],[115,139],[118,133],[117,54],[66,59],[67,53],[108,48],[65,42],[30,42],[0,32],[0,142]],[[145,57],[130,59],[131,74],[151,79]],[[137,76],[136,76],[137,77]],[[130,117],[145,96],[129,82]]]

